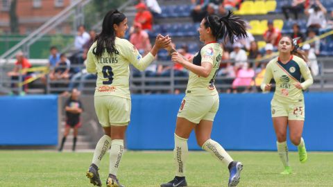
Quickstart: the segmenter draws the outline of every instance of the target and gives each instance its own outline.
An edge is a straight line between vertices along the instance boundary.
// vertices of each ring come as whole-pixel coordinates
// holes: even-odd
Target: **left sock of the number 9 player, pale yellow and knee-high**
[[[97,167],[99,167],[99,163],[101,163],[101,160],[105,154],[105,152],[108,152],[111,146],[111,138],[108,135],[104,135],[99,139],[99,142],[96,145],[95,151],[94,151],[94,157],[92,158],[92,163],[94,163]]]

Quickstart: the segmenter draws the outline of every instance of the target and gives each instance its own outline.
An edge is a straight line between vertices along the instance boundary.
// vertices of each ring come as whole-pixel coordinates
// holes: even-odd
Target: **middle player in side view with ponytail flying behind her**
[[[247,37],[246,24],[239,17],[234,17],[232,12],[226,17],[209,15],[205,17],[198,28],[200,41],[205,46],[194,56],[192,62],[188,62],[174,49],[172,61],[181,64],[190,71],[186,96],[182,100],[177,115],[175,148],[173,157],[176,163],[176,177],[161,186],[187,186],[185,180],[185,163],[187,158],[187,139],[192,130],[196,132],[196,141],[203,150],[210,152],[213,157],[228,166],[230,171],[229,186],[239,183],[242,164],[233,161],[222,146],[210,139],[215,114],[219,109],[219,94],[214,86],[214,78],[219,69],[223,50],[218,39],[228,39],[234,42],[234,38]]]

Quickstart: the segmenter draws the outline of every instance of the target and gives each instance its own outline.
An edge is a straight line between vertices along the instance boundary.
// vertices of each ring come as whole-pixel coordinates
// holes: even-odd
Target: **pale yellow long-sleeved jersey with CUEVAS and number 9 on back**
[[[130,99],[130,63],[144,70],[153,62],[154,56],[148,53],[142,58],[137,48],[126,39],[116,37],[114,43],[117,50],[112,55],[105,50],[99,58],[94,55],[96,42],[92,44],[87,54],[87,71],[97,73],[95,96],[113,95]]]

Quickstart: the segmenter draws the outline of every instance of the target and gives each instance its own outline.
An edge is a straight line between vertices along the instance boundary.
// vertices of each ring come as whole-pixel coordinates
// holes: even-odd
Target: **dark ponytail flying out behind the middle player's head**
[[[223,38],[224,42],[227,42],[228,38],[232,44],[235,38],[248,37],[245,21],[234,16],[230,10],[225,17],[220,18],[217,15],[205,17],[205,27],[212,29],[212,35],[216,37],[216,40]]]

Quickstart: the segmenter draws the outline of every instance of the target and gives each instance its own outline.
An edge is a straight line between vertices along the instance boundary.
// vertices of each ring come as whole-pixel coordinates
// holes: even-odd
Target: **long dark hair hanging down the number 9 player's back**
[[[119,25],[126,16],[118,10],[110,10],[103,19],[102,31],[99,35],[96,35],[95,41],[97,41],[96,48],[93,53],[97,57],[101,57],[104,50],[112,55],[116,51],[114,40],[116,39],[116,33],[114,32],[113,24]]]

